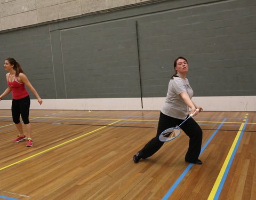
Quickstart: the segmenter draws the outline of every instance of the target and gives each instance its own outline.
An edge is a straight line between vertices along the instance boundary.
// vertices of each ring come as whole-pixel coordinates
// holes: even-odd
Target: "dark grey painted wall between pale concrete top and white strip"
[[[20,61],[44,99],[140,97],[139,56],[142,96],[165,97],[180,55],[195,96],[256,95],[255,10],[254,0],[174,0],[2,31],[1,62]]]

